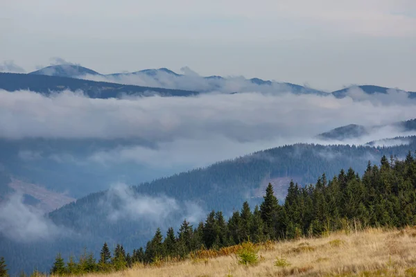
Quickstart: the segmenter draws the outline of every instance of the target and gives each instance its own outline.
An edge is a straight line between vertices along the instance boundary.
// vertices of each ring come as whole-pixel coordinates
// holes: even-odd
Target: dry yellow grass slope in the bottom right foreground
[[[239,265],[234,254],[194,258],[159,267],[137,266],[108,277],[416,276],[416,229],[368,229],[273,243],[261,247],[259,258],[255,266]],[[94,276],[98,274],[89,275]]]

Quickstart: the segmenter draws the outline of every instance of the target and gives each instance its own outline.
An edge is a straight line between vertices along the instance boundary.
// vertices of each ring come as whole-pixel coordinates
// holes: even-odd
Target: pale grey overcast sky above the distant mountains
[[[189,66],[326,91],[416,91],[413,0],[2,0],[0,39],[0,69],[62,57],[101,73]]]

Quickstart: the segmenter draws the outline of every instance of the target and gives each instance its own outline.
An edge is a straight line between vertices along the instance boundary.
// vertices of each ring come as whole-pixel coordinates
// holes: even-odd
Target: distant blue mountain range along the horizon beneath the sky
[[[390,89],[374,85],[355,87],[370,95],[374,93],[385,94]],[[207,77],[183,75],[166,68],[105,75],[73,64],[47,66],[28,74],[0,73],[0,89],[6,89],[7,91],[31,89],[32,91],[49,94],[51,91],[71,89],[83,90],[87,96],[94,98],[118,97],[122,93],[128,95],[146,95],[146,93],[153,95],[152,93],[158,93],[162,96],[191,96],[209,91],[224,93],[246,91],[279,93],[291,91],[294,94],[333,95],[337,98],[344,98],[351,88],[348,87],[329,93],[288,82],[275,82],[260,78],[224,78],[218,75]],[[409,98],[416,98],[416,92],[403,92],[407,92]]]

